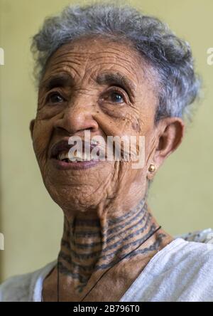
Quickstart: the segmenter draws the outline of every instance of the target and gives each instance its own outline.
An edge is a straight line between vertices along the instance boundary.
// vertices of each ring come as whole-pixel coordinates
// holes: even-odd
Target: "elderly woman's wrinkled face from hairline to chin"
[[[106,75],[107,74],[107,75]],[[109,75],[116,74],[114,78]],[[117,77],[126,80],[117,80]],[[116,78],[116,79],[115,79]],[[62,209],[86,211],[110,202],[128,210],[146,193],[148,167],[158,138],[158,102],[151,70],[130,46],[82,38],[61,46],[48,62],[32,124],[33,147],[43,181]],[[145,165],[99,161],[88,168],[60,168],[51,155],[70,136],[144,136]]]

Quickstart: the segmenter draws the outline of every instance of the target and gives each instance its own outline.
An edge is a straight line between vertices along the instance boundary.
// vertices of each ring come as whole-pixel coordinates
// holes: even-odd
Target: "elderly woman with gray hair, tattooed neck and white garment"
[[[64,231],[58,259],[6,280],[0,300],[213,300],[213,247],[173,238],[146,203],[199,90],[190,46],[130,6],[93,4],[46,19],[32,47],[39,88],[33,148]],[[124,144],[121,159],[115,152],[103,159],[103,146],[91,141],[89,153],[96,148],[99,159],[89,159],[86,132],[136,137],[135,154],[144,137],[143,166],[124,159]],[[70,137],[82,139],[82,153],[70,153]]]

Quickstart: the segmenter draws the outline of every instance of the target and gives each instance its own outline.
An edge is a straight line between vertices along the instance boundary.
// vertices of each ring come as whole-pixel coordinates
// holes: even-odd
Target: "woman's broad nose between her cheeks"
[[[89,105],[87,100],[81,105],[78,103],[67,106],[62,117],[55,122],[55,128],[64,129],[70,135],[74,135],[83,130],[96,132],[99,125],[93,117],[94,107],[95,105]]]

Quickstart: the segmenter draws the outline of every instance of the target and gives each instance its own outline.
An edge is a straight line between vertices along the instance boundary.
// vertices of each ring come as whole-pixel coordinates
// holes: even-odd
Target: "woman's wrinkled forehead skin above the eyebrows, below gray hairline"
[[[100,70],[121,71],[138,80],[143,73],[143,62],[138,52],[124,43],[109,42],[105,39],[91,41],[80,39],[67,43],[50,58],[46,70],[53,72],[60,68],[72,68],[79,73]]]

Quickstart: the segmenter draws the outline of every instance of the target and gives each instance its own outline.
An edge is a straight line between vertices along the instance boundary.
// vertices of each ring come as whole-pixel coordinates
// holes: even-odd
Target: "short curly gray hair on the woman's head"
[[[91,35],[130,41],[158,74],[156,122],[163,117],[190,117],[190,105],[198,95],[200,79],[195,74],[189,43],[175,36],[165,23],[128,4],[67,6],[60,15],[45,19],[31,46],[38,83],[50,56],[60,46]]]

